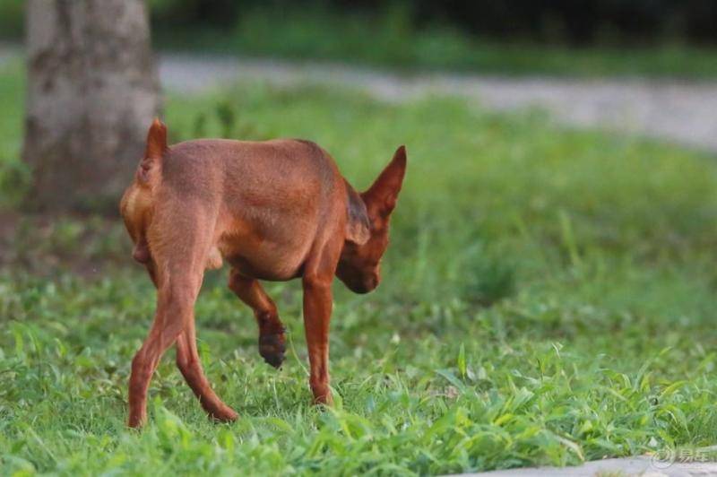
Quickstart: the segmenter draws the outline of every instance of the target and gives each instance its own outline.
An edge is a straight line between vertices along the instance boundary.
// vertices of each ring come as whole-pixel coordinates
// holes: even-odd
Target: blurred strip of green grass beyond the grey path
[[[587,77],[717,75],[715,48],[674,42],[630,48],[569,48],[520,39],[497,42],[439,24],[418,29],[413,26],[410,12],[403,8],[374,16],[315,8],[300,12],[260,9],[244,12],[233,30],[177,30],[158,24],[154,36],[160,48],[330,60],[402,70]]]

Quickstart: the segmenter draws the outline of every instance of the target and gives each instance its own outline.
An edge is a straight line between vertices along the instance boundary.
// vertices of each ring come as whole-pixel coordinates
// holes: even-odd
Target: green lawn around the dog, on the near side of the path
[[[21,85],[0,73],[4,98]],[[8,104],[3,174],[23,171]],[[276,371],[210,273],[200,351],[241,419],[207,421],[169,352],[149,425],[125,429],[151,283],[117,221],[23,217],[0,246],[0,473],[458,473],[717,443],[713,157],[309,87],[174,96],[165,118],[173,140],[313,139],[358,187],[407,144],[384,282],[334,287],[336,406],[309,404],[299,284],[268,286],[290,336]]]

